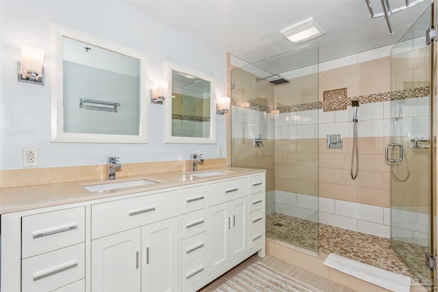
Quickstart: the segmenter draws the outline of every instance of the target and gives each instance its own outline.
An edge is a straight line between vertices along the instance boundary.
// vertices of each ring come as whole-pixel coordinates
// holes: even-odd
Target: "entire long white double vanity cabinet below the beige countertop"
[[[1,214],[0,290],[191,292],[265,255],[263,172],[136,191]]]

